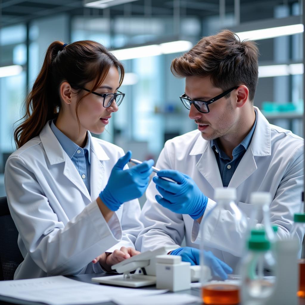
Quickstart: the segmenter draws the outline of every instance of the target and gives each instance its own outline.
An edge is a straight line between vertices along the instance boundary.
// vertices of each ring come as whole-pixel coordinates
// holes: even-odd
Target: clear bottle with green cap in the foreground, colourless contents
[[[271,243],[262,229],[251,230],[247,242],[247,253],[242,261],[242,304],[264,305],[273,293],[275,284],[275,261],[270,258]],[[273,258],[273,257],[272,257]],[[264,266],[268,265],[273,276],[264,276]]]

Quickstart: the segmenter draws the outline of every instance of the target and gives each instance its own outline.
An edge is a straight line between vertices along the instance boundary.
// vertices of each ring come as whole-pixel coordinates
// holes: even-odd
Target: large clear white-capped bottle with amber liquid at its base
[[[234,188],[216,188],[214,200],[216,205],[204,215],[200,225],[202,298],[205,304],[234,305],[239,303],[238,265],[244,252],[248,221],[235,204],[236,190]],[[227,247],[231,248],[227,249]],[[235,278],[239,280],[226,280],[213,274],[213,266],[205,256],[205,251],[221,253],[219,250],[229,252],[236,257],[235,265],[230,267],[233,269]],[[219,254],[219,256],[219,259],[223,260],[223,255]],[[206,272],[209,268],[211,272]]]

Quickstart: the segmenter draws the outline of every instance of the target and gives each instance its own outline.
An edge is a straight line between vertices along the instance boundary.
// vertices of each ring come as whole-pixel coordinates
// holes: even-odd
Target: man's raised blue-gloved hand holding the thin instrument
[[[160,170],[158,177],[152,180],[156,183],[158,192],[156,200],[165,208],[179,214],[189,214],[193,219],[198,219],[204,213],[208,198],[199,190],[196,183],[186,174],[177,170]],[[177,183],[159,177],[170,178]]]

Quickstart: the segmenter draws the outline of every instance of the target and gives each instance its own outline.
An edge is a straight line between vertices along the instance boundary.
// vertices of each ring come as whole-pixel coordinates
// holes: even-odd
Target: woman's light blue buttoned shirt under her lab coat
[[[51,129],[56,136],[58,142],[62,146],[63,150],[67,153],[76,169],[78,170],[81,178],[88,189],[90,195],[90,137],[87,135],[87,143],[82,149],[75,144],[70,138],[64,135],[54,124],[55,120],[51,122]],[[88,132],[88,131],[87,131]]]

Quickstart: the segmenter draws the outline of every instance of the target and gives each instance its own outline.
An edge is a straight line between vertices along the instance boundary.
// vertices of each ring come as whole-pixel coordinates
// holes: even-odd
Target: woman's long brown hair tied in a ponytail
[[[42,68],[33,88],[25,101],[25,119],[15,130],[14,139],[20,148],[41,132],[48,120],[57,117],[60,109],[59,87],[67,81],[76,93],[77,86],[96,80],[88,94],[97,89],[104,81],[111,66],[117,67],[120,73],[120,85],[124,78],[124,67],[113,54],[98,42],[84,40],[64,46],[61,41],[54,41],[47,49]],[[77,101],[79,103],[87,96]],[[77,116],[78,124],[80,124]]]

